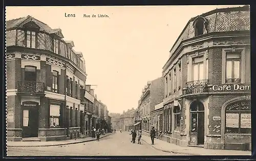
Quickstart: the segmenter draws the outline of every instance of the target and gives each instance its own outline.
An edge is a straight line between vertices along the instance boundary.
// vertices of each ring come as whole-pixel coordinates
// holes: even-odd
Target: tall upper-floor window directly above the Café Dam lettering
[[[240,83],[240,53],[226,53],[226,83]]]

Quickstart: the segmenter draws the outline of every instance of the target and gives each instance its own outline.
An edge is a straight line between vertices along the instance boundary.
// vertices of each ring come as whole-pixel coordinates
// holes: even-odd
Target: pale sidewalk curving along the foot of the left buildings
[[[111,135],[113,133],[106,133],[105,135],[100,135],[100,139]],[[76,139],[76,140],[66,140],[66,141],[49,141],[49,142],[10,142],[7,141],[7,147],[49,147],[49,146],[59,146],[59,145],[68,145],[68,144],[77,144],[77,143],[84,143],[96,141],[96,138],[86,137],[83,139]]]

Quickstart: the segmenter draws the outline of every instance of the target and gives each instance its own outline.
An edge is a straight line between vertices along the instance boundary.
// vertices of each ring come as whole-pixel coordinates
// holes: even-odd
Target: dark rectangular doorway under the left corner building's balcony
[[[24,104],[25,105],[25,104]],[[38,105],[22,108],[23,137],[38,137]],[[34,105],[34,104],[30,104]]]

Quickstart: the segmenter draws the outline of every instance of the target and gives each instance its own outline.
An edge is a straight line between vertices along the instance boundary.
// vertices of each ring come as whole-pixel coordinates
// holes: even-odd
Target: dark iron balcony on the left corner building
[[[23,94],[44,94],[45,83],[34,81],[17,81],[17,92]]]

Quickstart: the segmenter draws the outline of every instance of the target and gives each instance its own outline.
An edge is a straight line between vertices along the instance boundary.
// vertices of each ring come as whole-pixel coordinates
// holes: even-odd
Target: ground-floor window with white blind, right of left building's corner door
[[[60,106],[50,105],[50,127],[59,127]]]

